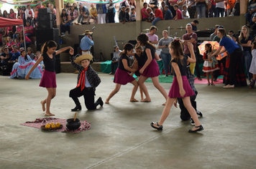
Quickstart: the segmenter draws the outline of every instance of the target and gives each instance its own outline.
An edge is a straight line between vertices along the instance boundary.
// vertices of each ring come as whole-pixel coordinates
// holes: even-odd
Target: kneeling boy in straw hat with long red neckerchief
[[[69,97],[71,97],[76,103],[76,107],[71,111],[78,111],[82,109],[78,100],[78,97],[81,97],[82,95],[88,110],[95,110],[98,105],[101,105],[101,107],[103,105],[101,97],[94,102],[95,90],[100,84],[101,79],[91,65],[89,65],[91,59],[93,59],[91,54],[82,54],[79,57],[70,57],[71,64],[79,71],[78,85],[75,89],[70,90],[69,92]]]

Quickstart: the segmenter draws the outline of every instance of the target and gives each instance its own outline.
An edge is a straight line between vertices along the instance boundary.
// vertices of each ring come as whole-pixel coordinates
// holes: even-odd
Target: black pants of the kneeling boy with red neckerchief
[[[83,91],[81,91],[81,87],[76,87],[69,92],[69,97],[72,97],[73,100],[78,100],[78,97],[81,96],[83,96],[86,108],[88,110],[96,110],[97,105],[94,103],[94,90],[92,87],[85,87]],[[79,100],[75,103],[76,105],[80,105]]]

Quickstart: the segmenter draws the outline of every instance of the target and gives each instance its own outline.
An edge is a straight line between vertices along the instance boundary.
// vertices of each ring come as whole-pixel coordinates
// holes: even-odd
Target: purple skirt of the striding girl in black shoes
[[[183,97],[189,97],[195,95],[193,90],[191,89],[191,85],[188,82],[188,78],[186,76],[182,76],[182,82],[183,82],[183,89],[185,90],[186,94]],[[170,98],[182,98],[180,96],[180,88],[178,87],[178,80],[177,77],[173,77],[173,84],[172,87],[170,87],[170,92],[168,97]]]

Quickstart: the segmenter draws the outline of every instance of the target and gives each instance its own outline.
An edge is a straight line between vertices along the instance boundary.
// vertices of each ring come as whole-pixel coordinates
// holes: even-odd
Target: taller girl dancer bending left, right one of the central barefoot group
[[[148,77],[151,77],[154,86],[157,88],[157,90],[159,90],[162,93],[163,97],[165,97],[165,100],[167,100],[168,95],[165,89],[160,85],[158,79],[160,71],[157,62],[155,61],[155,58],[158,59],[158,56],[155,53],[155,46],[149,42],[149,39],[146,34],[140,34],[137,37],[137,42],[138,44],[140,44],[140,46],[145,46],[143,55],[145,57],[147,56],[147,62],[145,62],[144,66],[140,69],[141,76],[138,81],[142,91],[145,93],[146,96],[145,99],[141,102],[151,101],[150,95],[147,92],[147,87],[144,84]],[[165,105],[165,103],[163,105]]]

